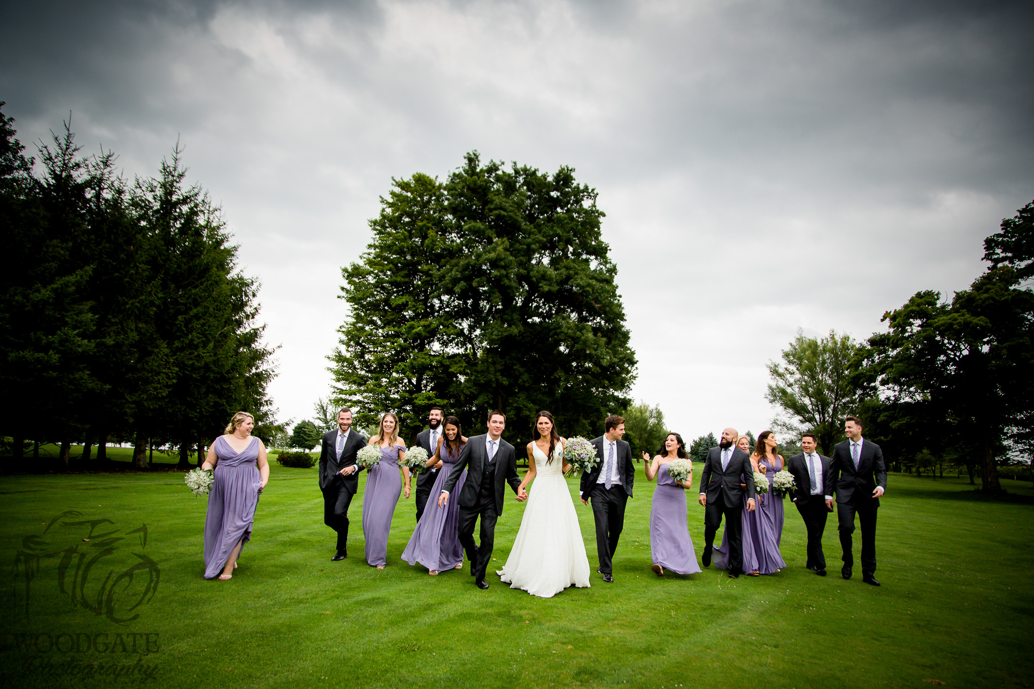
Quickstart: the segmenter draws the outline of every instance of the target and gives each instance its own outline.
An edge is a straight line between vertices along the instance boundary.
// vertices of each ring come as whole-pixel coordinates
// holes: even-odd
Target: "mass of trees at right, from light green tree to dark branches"
[[[947,462],[1000,493],[1000,466],[1034,462],[1034,202],[984,240],[983,260],[968,289],[916,292],[865,342],[798,333],[768,367],[776,428],[816,433],[828,455],[857,414],[896,469]]]

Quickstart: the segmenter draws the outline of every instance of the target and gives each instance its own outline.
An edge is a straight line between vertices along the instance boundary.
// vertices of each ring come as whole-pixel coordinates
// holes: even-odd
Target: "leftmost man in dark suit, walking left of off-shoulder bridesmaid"
[[[331,562],[348,556],[348,505],[359,492],[356,455],[366,439],[352,429],[352,409],[337,412],[337,430],[324,434],[320,450],[320,490],[324,495],[324,524],[337,532],[337,552]]]

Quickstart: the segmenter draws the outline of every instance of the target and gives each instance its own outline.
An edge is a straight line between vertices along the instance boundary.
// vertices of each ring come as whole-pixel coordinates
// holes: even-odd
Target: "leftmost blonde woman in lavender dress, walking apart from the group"
[[[234,414],[201,465],[215,469],[205,516],[205,578],[233,578],[241,549],[251,540],[258,495],[269,482],[266,446],[251,435],[254,426],[248,412]]]

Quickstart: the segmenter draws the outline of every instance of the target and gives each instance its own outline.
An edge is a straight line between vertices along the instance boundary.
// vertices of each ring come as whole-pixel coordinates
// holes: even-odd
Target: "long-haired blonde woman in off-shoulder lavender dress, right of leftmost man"
[[[363,536],[366,538],[366,563],[384,569],[388,563],[388,534],[395,514],[398,496],[409,497],[409,468],[402,467],[405,487],[399,478],[399,462],[405,458],[405,443],[398,439],[398,416],[390,411],[381,417],[370,444],[381,448],[381,464],[367,471],[363,494]]]

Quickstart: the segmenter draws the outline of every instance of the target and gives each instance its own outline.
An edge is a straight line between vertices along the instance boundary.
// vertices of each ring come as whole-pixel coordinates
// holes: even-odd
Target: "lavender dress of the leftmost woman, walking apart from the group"
[[[221,574],[237,543],[251,540],[251,525],[262,486],[258,442],[252,437],[240,452],[222,436],[212,443],[217,462],[205,516],[205,578]]]

